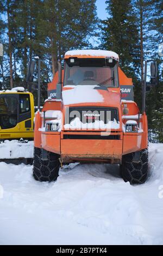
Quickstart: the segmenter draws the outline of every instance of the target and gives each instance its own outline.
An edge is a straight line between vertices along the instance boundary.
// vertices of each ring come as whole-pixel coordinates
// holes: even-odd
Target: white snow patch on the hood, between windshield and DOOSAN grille
[[[71,90],[62,91],[64,105],[103,102],[102,95],[94,90],[96,86],[77,85]]]

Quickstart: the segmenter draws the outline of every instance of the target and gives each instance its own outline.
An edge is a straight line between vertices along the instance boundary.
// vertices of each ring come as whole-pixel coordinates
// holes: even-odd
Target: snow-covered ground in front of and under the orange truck
[[[32,166],[1,162],[0,244],[162,245],[163,144],[149,145],[149,165],[130,186],[118,165],[71,164],[40,183]]]

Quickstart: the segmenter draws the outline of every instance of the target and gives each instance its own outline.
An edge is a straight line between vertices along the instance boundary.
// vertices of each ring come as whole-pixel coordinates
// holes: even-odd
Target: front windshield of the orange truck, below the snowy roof
[[[104,58],[69,58],[65,61],[64,86],[66,85],[118,87],[117,62]]]

